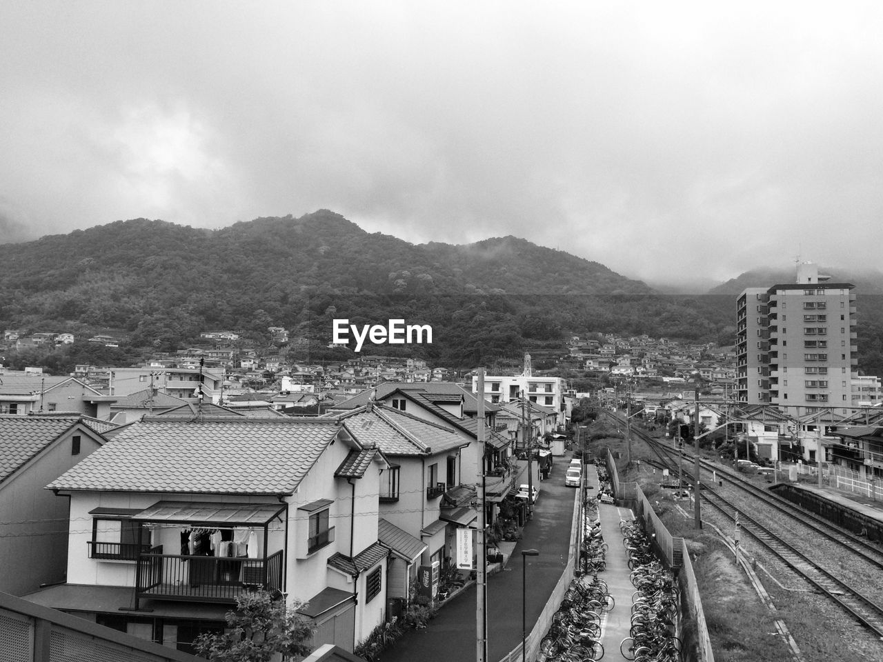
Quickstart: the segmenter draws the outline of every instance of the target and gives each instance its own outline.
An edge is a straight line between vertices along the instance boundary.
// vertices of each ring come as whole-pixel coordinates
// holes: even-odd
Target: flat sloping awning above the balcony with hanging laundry
[[[285,509],[278,503],[213,503],[209,501],[157,501],[133,520],[147,523],[264,526]]]

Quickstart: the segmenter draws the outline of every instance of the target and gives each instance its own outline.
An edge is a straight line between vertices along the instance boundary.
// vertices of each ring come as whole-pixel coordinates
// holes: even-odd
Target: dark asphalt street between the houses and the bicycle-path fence
[[[572,487],[564,486],[568,462],[569,457],[555,458],[549,478],[537,485],[540,495],[522,539],[515,544],[502,571],[487,577],[487,662],[497,662],[521,643],[522,573],[527,580],[525,616],[530,631],[567,564],[575,496]],[[618,531],[618,520],[616,526]],[[540,555],[523,557],[523,549],[536,549]],[[525,558],[527,568],[522,565]],[[445,600],[426,629],[408,632],[381,653],[382,662],[475,659],[476,593],[473,583]]]

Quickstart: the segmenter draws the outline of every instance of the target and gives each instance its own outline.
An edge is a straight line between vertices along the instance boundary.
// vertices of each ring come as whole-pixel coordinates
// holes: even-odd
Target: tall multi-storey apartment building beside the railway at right
[[[789,416],[849,413],[857,377],[856,295],[811,262],[797,282],[746,288],[736,300],[737,400]],[[840,409],[839,408],[843,408]]]

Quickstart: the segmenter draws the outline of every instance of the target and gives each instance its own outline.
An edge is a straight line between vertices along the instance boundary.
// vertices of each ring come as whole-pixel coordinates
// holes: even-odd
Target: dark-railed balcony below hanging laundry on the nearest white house
[[[282,591],[282,550],[263,559],[163,554],[162,545],[138,554],[135,597],[233,604],[243,591]]]

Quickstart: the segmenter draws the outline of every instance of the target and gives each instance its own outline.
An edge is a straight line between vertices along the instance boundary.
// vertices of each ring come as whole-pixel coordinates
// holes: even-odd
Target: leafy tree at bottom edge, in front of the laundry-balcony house
[[[312,621],[290,612],[284,600],[274,600],[267,591],[245,591],[236,598],[236,611],[227,612],[228,632],[204,634],[193,645],[211,662],[269,662],[276,654],[283,660],[306,656],[313,650],[307,643],[313,636]]]

